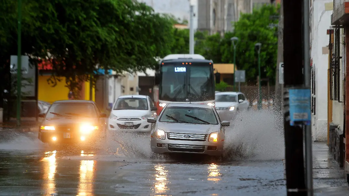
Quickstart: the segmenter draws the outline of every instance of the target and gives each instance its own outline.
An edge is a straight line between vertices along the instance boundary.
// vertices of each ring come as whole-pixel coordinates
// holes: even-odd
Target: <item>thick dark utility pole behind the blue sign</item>
[[[284,135],[287,196],[306,196],[303,128],[290,124],[290,89],[303,87],[303,1],[284,1],[283,58],[284,58]],[[309,45],[308,45],[309,50]]]

